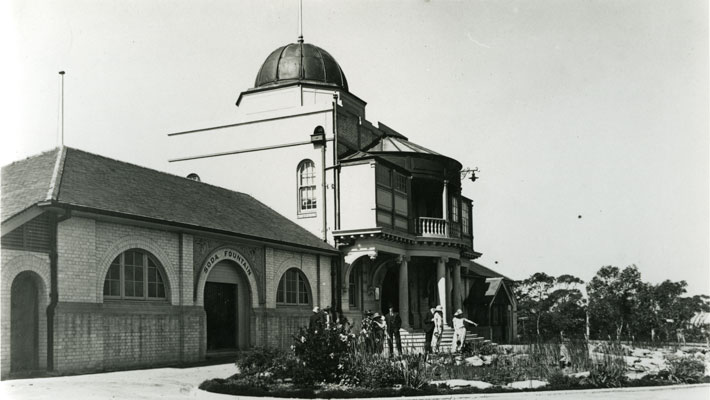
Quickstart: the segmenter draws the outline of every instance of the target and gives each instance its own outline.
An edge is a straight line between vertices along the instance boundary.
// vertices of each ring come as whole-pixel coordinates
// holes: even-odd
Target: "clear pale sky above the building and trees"
[[[170,170],[167,133],[235,121],[298,1],[9,0],[0,163],[59,143]],[[304,0],[367,119],[478,167],[482,264],[605,265],[710,294],[706,1]]]

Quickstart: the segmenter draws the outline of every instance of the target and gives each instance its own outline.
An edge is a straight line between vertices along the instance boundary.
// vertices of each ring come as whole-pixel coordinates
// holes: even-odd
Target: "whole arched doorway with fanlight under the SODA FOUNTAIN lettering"
[[[205,283],[207,351],[249,347],[251,289],[241,267],[224,260],[212,267]]]

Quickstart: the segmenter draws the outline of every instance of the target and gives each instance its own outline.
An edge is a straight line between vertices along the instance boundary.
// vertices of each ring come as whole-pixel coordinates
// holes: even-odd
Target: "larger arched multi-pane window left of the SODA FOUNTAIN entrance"
[[[160,300],[166,288],[157,260],[148,252],[131,249],[119,254],[104,280],[104,297],[108,299]]]

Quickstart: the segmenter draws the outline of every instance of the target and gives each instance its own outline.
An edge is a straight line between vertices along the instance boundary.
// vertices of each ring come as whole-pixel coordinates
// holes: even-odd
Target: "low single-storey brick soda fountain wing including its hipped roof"
[[[60,148],[2,171],[2,377],[288,346],[338,252],[251,196]]]

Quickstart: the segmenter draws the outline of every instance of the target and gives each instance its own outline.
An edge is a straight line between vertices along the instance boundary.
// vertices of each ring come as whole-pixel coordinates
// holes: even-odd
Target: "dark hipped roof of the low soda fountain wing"
[[[3,167],[2,179],[3,223],[49,200],[78,210],[337,252],[248,194],[73,148]]]

